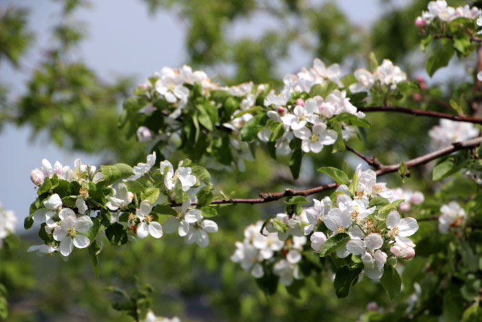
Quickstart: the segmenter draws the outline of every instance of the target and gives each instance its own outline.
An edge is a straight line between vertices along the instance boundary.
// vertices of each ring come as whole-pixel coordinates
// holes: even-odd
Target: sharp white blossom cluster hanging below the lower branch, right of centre
[[[412,217],[402,219],[396,210],[391,210],[386,218],[377,214],[377,207],[370,207],[370,200],[378,196],[393,202],[393,191],[386,188],[385,183],[377,183],[373,170],[362,171],[359,165],[355,174],[359,181],[353,199],[348,187],[340,185],[336,205],[331,203],[331,199],[325,198],[322,201],[315,200],[315,205],[306,210],[311,225],[305,228],[305,234],[310,234],[320,223],[324,223],[328,229],[326,234],[322,231],[311,234],[311,247],[315,252],[320,252],[328,238],[340,233],[348,234],[350,241],[339,245],[336,249],[337,256],[360,256],[365,274],[370,279],[377,280],[381,278],[390,256],[384,250],[390,250],[392,256],[403,259],[415,256],[415,243],[408,237],[417,232],[418,225]]]

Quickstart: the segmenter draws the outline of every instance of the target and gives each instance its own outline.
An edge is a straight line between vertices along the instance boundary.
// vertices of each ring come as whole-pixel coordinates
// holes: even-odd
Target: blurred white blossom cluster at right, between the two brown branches
[[[441,119],[439,125],[435,125],[428,131],[428,135],[433,145],[445,147],[455,142],[472,139],[479,135],[479,132],[479,128],[472,123]]]

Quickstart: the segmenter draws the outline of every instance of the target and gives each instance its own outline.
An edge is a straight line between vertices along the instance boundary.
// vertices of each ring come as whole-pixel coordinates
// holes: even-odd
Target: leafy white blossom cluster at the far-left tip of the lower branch
[[[185,166],[186,161],[181,161],[176,170],[169,161],[162,161],[154,170],[155,163],[156,152],[147,156],[147,163],[134,168],[119,163],[96,170],[76,159],[71,170],[59,161],[52,167],[44,159],[42,167],[30,174],[39,197],[25,223],[41,223],[40,235],[47,237],[45,244],[34,245],[29,251],[69,256],[74,248],[87,248],[94,241],[100,245],[105,238],[117,241],[119,234],[125,237],[122,243],[149,235],[158,239],[163,236],[159,222],[162,215],[170,215],[165,221],[166,232],[178,228],[187,244],[206,247],[207,232],[217,232],[218,225],[204,219],[200,210],[189,209],[197,202],[200,180],[192,168]],[[116,188],[112,187],[114,183]],[[171,208],[171,203],[180,201],[182,207]]]

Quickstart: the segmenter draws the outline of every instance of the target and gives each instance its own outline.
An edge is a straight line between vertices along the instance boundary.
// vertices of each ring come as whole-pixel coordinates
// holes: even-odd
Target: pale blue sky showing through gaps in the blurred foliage
[[[406,1],[403,1],[406,2]],[[351,21],[366,26],[382,13],[377,0],[342,0],[339,6]],[[29,28],[36,34],[34,46],[21,62],[21,70],[14,70],[5,61],[0,64],[3,83],[10,84],[13,97],[21,94],[32,69],[49,47],[50,28],[59,21],[59,2],[51,0],[1,0],[0,9],[15,5],[30,8]],[[177,67],[187,57],[183,48],[187,26],[172,12],[158,12],[151,16],[147,7],[136,0],[92,1],[92,7],[82,9],[76,20],[87,23],[88,37],[78,54],[85,63],[108,80],[120,74],[134,75],[140,82],[163,66]],[[237,35],[255,33],[270,26],[270,21],[251,19],[239,21],[231,32]],[[290,61],[296,66],[293,72],[306,63],[303,57]],[[7,125],[0,132],[0,203],[3,208],[14,210],[19,218],[17,232],[23,232],[23,218],[36,197],[30,181],[30,170],[38,168],[43,158],[54,163],[72,166],[76,157],[83,163],[98,163],[95,155],[63,151],[49,143],[44,133],[29,141],[28,127]]]

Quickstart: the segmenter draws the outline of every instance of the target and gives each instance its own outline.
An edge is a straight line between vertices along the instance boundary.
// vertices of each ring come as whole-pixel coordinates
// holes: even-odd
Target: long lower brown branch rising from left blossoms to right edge
[[[405,162],[406,168],[413,168],[417,165],[428,163],[434,159],[439,157],[443,157],[444,155],[451,154],[453,152],[465,149],[471,149],[474,147],[479,146],[482,143],[482,137],[476,137],[474,139],[470,139],[467,141],[461,141],[452,143],[452,145],[448,146],[447,148],[443,148],[441,150],[437,150],[434,152],[430,152],[428,154],[422,155],[421,157],[417,157],[415,159],[411,159]],[[398,171],[401,163],[396,163],[392,165],[382,165],[376,173],[377,176],[383,176],[384,174],[392,173]],[[213,200],[211,205],[222,205],[222,204],[229,204],[229,203],[251,203],[251,205],[255,203],[268,203],[271,201],[276,201],[285,197],[293,197],[293,196],[303,196],[306,197],[310,194],[316,194],[318,192],[322,192],[325,190],[332,190],[339,186],[338,183],[328,183],[326,185],[319,185],[315,188],[305,189],[305,190],[293,190],[287,188],[284,192],[272,192],[272,193],[261,193],[260,198],[258,199],[220,199],[220,200]],[[171,203],[171,206],[179,206],[180,203]],[[196,203],[193,203],[196,205]]]

